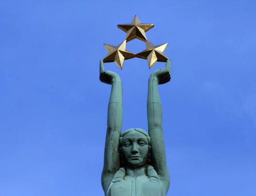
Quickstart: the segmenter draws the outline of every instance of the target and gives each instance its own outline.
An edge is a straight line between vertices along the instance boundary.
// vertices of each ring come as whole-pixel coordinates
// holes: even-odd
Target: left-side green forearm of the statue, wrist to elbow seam
[[[122,129],[122,82],[120,77],[113,79],[111,94],[108,104],[108,132],[119,131]]]

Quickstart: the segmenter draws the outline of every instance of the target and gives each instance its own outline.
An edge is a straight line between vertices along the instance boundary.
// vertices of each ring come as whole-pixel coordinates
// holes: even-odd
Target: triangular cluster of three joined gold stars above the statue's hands
[[[141,24],[139,18],[137,17],[137,15],[135,15],[131,24],[117,25],[117,27],[127,33],[126,39],[124,40],[124,42],[117,46],[104,44],[105,48],[108,51],[107,56],[103,58],[104,63],[115,62],[115,64],[117,64],[117,66],[122,69],[124,60],[138,57],[147,59],[149,69],[151,69],[151,67],[156,64],[156,62],[167,62],[167,60],[169,59],[164,54],[168,43],[155,46],[147,40],[145,32],[152,29],[154,27],[154,24]],[[134,40],[135,38],[146,42],[146,50],[137,54],[126,50],[126,42]]]

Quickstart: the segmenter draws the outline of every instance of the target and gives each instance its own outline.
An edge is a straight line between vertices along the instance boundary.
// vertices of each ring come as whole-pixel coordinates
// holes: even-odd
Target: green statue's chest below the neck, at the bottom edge
[[[121,182],[113,183],[108,196],[165,196],[159,182],[147,176],[126,176]]]

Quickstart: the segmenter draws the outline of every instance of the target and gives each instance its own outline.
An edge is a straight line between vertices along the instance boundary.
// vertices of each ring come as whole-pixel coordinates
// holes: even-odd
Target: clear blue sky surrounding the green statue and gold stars
[[[256,2],[253,0],[0,2],[0,196],[104,195],[111,86],[103,43],[135,15],[169,43],[161,85],[171,186],[167,196],[256,194]],[[132,40],[138,53],[145,42]],[[147,129],[147,60],[124,62],[123,131]]]

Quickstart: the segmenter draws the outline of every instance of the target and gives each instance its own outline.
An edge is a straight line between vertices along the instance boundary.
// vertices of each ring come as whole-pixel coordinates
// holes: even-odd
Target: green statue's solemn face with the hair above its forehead
[[[121,153],[124,165],[131,168],[143,167],[148,162],[148,140],[139,131],[126,134],[121,143]]]

